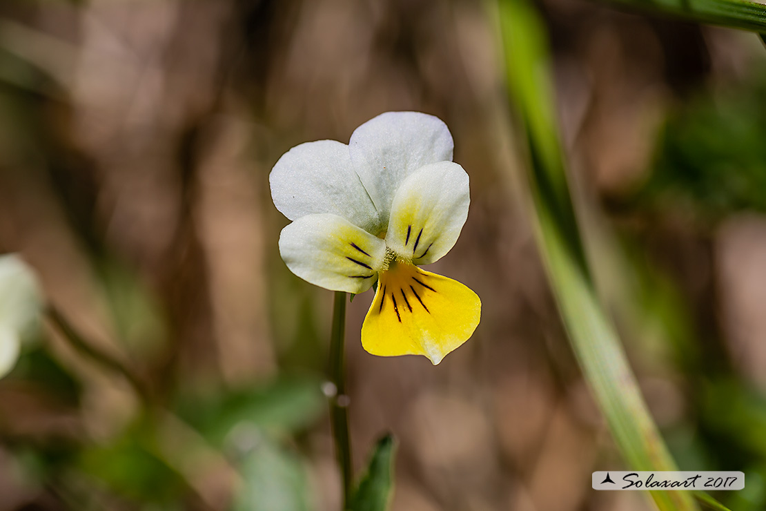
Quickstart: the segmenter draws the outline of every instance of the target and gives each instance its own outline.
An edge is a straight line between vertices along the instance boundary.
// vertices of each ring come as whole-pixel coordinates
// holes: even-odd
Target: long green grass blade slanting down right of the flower
[[[677,470],[594,290],[558,139],[545,28],[526,0],[500,0],[497,15],[535,234],[572,349],[629,469]],[[690,492],[650,493],[661,511],[699,509]]]

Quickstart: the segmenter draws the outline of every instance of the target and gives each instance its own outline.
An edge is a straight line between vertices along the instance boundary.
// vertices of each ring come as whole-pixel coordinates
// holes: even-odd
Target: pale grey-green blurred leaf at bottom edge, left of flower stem
[[[233,511],[308,511],[309,482],[300,459],[257,429],[248,436],[254,447],[240,465],[244,486]]]

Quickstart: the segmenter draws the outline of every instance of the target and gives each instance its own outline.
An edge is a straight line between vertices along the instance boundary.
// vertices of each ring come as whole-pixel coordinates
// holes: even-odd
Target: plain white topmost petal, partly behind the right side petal
[[[381,113],[355,129],[349,142],[356,172],[384,224],[400,183],[428,163],[451,161],[452,149],[447,125],[419,112]]]

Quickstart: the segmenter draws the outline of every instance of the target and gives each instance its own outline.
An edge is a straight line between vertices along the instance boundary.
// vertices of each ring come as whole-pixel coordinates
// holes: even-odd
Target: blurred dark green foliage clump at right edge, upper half
[[[766,77],[689,102],[666,120],[640,205],[703,218],[766,211]]]

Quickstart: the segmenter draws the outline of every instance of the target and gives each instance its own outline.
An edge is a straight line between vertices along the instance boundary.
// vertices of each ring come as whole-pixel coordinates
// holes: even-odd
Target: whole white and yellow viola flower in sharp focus
[[[468,175],[452,151],[437,117],[388,112],[355,129],[348,146],[306,142],[271,171],[274,205],[293,221],[280,234],[290,271],[347,293],[378,283],[362,325],[372,355],[436,365],[479,324],[476,293],[419,267],[450,251],[468,217]]]

